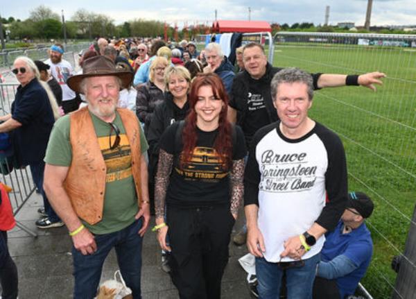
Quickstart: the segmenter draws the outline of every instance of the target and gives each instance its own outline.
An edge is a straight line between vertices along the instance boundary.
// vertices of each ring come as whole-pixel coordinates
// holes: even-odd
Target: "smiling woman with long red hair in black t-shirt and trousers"
[[[196,77],[189,105],[187,118],[160,140],[155,230],[162,249],[171,251],[180,298],[219,299],[243,199],[244,135],[227,121],[228,96],[216,74]]]

